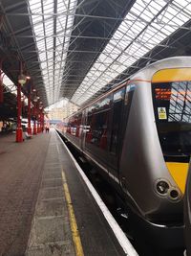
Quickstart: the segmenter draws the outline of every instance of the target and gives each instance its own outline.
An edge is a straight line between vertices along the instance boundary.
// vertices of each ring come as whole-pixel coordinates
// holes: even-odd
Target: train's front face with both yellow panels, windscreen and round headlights
[[[152,79],[152,96],[161,151],[176,183],[158,180],[156,192],[176,202],[184,194],[191,153],[191,68],[159,70]]]

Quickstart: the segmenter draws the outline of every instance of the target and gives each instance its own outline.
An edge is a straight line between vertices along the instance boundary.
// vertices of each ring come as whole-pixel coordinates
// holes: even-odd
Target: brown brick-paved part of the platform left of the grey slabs
[[[0,137],[0,255],[24,255],[51,134]]]

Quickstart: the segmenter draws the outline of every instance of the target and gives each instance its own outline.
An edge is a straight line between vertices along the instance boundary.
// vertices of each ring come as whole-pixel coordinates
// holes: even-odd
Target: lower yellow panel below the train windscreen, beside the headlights
[[[180,188],[181,193],[184,194],[185,182],[188,172],[188,163],[174,163],[166,162],[169,173],[174,178],[175,182]]]

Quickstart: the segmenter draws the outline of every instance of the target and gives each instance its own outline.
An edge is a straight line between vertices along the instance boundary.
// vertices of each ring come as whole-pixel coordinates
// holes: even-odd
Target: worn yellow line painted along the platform
[[[74,216],[74,209],[73,209],[73,204],[71,200],[71,195],[69,192],[66,175],[63,169],[62,169],[62,181],[63,181],[63,189],[64,189],[64,194],[67,202],[67,207],[69,211],[69,218],[70,218],[71,230],[73,234],[75,254],[76,256],[84,256],[83,248],[82,248],[82,244],[81,244],[81,240],[80,240],[80,236],[77,228],[77,223]]]

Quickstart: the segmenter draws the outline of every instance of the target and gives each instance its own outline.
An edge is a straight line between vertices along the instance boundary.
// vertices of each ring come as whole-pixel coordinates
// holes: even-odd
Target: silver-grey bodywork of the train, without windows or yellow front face
[[[120,135],[117,144],[117,157],[114,159],[110,153],[110,145],[107,151],[87,142],[87,132],[90,129],[88,123],[90,108],[96,102],[78,111],[80,116],[80,128],[78,136],[65,132],[64,136],[87,159],[98,167],[101,174],[113,185],[117,194],[120,194],[124,203],[130,207],[138,218],[140,225],[148,227],[159,233],[163,243],[166,236],[175,236],[182,243],[182,198],[179,185],[164,161],[163,152],[159,142],[158,128],[154,114],[152,98],[152,78],[159,70],[190,68],[191,58],[177,57],[166,58],[154,64],[146,66],[122,85],[111,92],[101,96],[96,102],[107,97],[113,98],[120,89],[124,89],[124,99],[121,111],[125,111],[125,97],[128,91],[132,91],[131,105],[128,109],[128,118],[122,115],[119,126]],[[133,88],[132,90],[127,88]],[[115,103],[110,106],[110,115],[115,111]],[[105,113],[105,110],[101,110]],[[101,112],[100,111],[100,112]],[[124,118],[123,118],[124,117]],[[108,117],[108,138],[112,138],[112,118]],[[69,124],[71,119],[69,119]],[[114,125],[114,124],[113,124]],[[169,185],[165,195],[159,194],[156,185],[159,181],[167,180]],[[171,197],[171,192],[176,192],[176,197]],[[164,234],[164,235],[163,235]],[[174,242],[172,242],[174,243]]]

